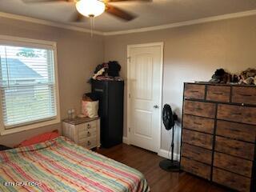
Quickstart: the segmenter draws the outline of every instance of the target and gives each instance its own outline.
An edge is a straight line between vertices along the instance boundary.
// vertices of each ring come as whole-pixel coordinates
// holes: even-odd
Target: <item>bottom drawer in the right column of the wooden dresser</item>
[[[250,191],[250,178],[245,178],[238,174],[230,173],[226,170],[214,168],[213,181],[223,186],[228,186],[234,190],[242,192]]]

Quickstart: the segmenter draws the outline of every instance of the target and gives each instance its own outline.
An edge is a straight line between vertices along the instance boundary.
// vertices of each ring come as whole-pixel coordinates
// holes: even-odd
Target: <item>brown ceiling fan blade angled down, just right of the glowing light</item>
[[[106,5],[106,13],[112,14],[115,17],[122,18],[125,21],[131,21],[136,18],[135,15],[126,12],[125,10],[121,10],[118,7]]]

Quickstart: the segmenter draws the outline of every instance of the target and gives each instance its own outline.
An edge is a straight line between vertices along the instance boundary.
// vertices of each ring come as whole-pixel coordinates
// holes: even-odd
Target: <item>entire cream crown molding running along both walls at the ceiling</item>
[[[104,36],[117,35],[117,34],[134,34],[134,33],[146,32],[146,31],[153,31],[153,30],[166,30],[166,29],[180,27],[180,26],[191,26],[191,25],[196,25],[196,24],[205,23],[205,22],[216,22],[216,21],[230,19],[230,18],[242,18],[242,17],[251,16],[255,14],[256,14],[256,10],[248,10],[248,11],[238,12],[234,14],[223,14],[223,15],[218,15],[214,17],[199,18],[199,19],[194,19],[186,22],[174,22],[174,23],[162,25],[162,26],[143,27],[143,28],[138,28],[134,30],[118,30],[113,32],[102,32],[99,30],[94,30],[94,34],[104,35]],[[0,12],[0,18],[12,18],[19,21],[23,21],[23,22],[34,22],[37,24],[59,27],[66,30],[76,30],[84,33],[90,33],[90,30],[82,27],[71,26],[71,25],[62,24],[59,22],[50,22],[50,21],[46,21],[38,18],[30,18],[30,17],[18,15],[18,14],[8,14],[5,12]]]

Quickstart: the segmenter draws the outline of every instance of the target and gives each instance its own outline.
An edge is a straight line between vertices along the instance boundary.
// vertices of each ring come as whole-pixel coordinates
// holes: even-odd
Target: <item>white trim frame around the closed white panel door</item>
[[[158,136],[157,136],[157,153],[159,153],[161,149],[161,130],[162,130],[162,86],[163,86],[163,57],[164,57],[164,42],[151,42],[151,43],[143,43],[143,44],[133,44],[133,45],[127,45],[127,144],[130,145],[130,49],[131,48],[140,48],[140,47],[147,47],[147,46],[160,46],[161,49],[161,55],[160,55],[160,100],[159,100],[159,117],[160,122],[158,125]]]

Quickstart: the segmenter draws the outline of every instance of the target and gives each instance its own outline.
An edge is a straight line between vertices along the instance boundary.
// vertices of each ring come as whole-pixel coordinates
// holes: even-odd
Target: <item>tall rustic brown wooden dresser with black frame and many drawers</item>
[[[256,191],[256,86],[185,83],[181,168]]]

